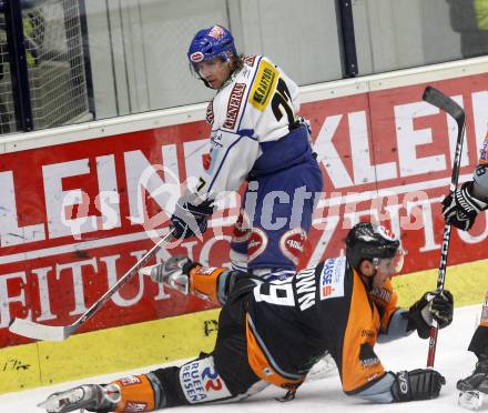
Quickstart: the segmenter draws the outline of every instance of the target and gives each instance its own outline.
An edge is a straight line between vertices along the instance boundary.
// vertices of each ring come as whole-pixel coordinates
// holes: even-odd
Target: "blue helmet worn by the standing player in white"
[[[234,38],[227,29],[220,24],[202,29],[190,43],[187,57],[195,70],[197,64],[205,60],[221,58],[225,62],[232,57],[237,57]]]

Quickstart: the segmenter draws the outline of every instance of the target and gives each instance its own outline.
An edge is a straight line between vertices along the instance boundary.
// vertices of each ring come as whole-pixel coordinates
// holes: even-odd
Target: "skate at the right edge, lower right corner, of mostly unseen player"
[[[481,407],[484,395],[488,394],[488,360],[479,361],[472,374],[457,382],[458,404],[469,410]]]

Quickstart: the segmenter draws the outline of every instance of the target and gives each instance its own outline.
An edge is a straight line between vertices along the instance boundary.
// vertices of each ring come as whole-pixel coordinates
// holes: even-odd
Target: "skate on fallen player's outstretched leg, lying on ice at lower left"
[[[119,389],[113,385],[83,384],[64,392],[53,393],[38,407],[48,413],[65,413],[74,410],[109,412],[120,399]]]

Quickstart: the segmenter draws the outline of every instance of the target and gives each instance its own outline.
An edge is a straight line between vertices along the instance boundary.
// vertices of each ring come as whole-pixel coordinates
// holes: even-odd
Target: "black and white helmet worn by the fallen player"
[[[359,222],[346,236],[346,258],[355,270],[359,270],[364,260],[378,265],[380,260],[393,259],[395,272],[399,272],[403,255],[400,240],[392,235],[384,226]]]

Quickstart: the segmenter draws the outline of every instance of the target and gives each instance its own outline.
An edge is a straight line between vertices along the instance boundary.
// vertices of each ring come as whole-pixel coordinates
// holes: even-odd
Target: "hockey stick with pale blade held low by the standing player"
[[[89,319],[91,319],[106,301],[149,261],[149,259],[156,253],[156,251],[167,242],[173,235],[173,231],[170,231],[164,235],[145,255],[139,260],[132,268],[109,290],[106,291],[93,305],[88,309],[77,321],[70,325],[44,325],[38,324],[30,320],[13,319],[10,323],[9,331],[19,335],[23,335],[34,340],[45,341],[63,341],[67,340],[72,333],[74,333],[81,325],[83,325]]]

